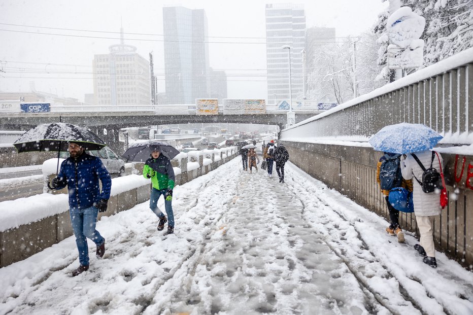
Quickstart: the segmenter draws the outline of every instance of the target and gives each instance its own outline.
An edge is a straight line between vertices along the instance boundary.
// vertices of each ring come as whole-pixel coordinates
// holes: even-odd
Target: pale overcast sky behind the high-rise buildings
[[[125,44],[136,46],[138,53],[146,59],[153,51],[155,74],[163,74],[162,36],[157,35],[163,33],[164,4],[205,9],[209,37],[232,37],[209,38],[209,42],[220,42],[209,44],[210,66],[225,70],[229,76],[229,98],[266,98],[265,78],[257,76],[264,74],[266,68],[266,3],[289,2],[0,0],[0,91],[29,91],[30,81],[34,81],[38,91],[83,101],[84,93],[93,93],[90,74],[93,55],[108,53],[110,45],[119,43],[118,33],[106,32],[119,32],[121,23],[125,33],[139,33],[125,34]],[[382,0],[307,0],[292,3],[305,6],[307,27],[335,27],[337,37],[356,36],[368,29],[386,6]],[[38,73],[31,74],[31,69]],[[64,74],[56,74],[58,71]],[[245,79],[238,77],[240,75],[250,77]],[[158,92],[164,92],[164,78],[159,79]]]

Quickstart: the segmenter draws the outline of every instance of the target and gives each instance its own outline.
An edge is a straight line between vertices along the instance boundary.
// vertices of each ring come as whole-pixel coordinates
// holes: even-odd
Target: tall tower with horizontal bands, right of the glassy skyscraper
[[[290,46],[292,98],[302,98],[302,53],[306,46],[306,16],[301,4],[266,5],[266,68],[268,103],[289,99]]]

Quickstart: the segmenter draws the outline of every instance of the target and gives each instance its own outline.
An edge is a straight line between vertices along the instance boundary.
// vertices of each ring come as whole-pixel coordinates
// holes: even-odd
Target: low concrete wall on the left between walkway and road
[[[222,153],[220,153],[222,154]],[[218,162],[213,162],[213,168],[228,162],[238,155],[237,148],[228,154],[228,157]],[[181,174],[176,176],[176,185],[185,184],[192,179],[208,173],[211,167],[202,164],[203,159],[200,157],[200,167],[187,173],[187,158],[181,161]],[[214,161],[214,159],[212,159]],[[143,163],[134,164],[135,173],[143,173]],[[141,170],[141,171],[140,171]],[[108,203],[108,209],[104,213],[98,214],[98,220],[103,216],[115,215],[121,211],[132,208],[133,206],[149,200],[151,185],[144,185],[133,188],[129,191],[111,196]],[[63,190],[65,193],[66,190]],[[44,218],[37,222],[27,225],[21,225],[18,228],[0,232],[0,267],[8,266],[14,262],[28,258],[29,256],[41,252],[42,250],[60,242],[66,237],[73,235],[69,210],[65,212]]]

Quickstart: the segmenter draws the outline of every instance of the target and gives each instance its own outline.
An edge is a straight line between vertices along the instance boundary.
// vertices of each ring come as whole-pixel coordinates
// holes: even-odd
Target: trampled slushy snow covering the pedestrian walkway
[[[147,203],[97,230],[89,271],[74,237],[0,269],[0,314],[472,314],[473,273],[422,263],[387,222],[291,164],[286,183],[241,159],[175,189],[176,234]],[[162,199],[160,208],[163,208]]]

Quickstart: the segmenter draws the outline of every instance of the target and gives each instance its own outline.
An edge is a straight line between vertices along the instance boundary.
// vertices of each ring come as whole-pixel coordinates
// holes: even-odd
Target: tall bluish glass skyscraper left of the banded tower
[[[166,103],[210,96],[207,16],[203,9],[162,8]]]

